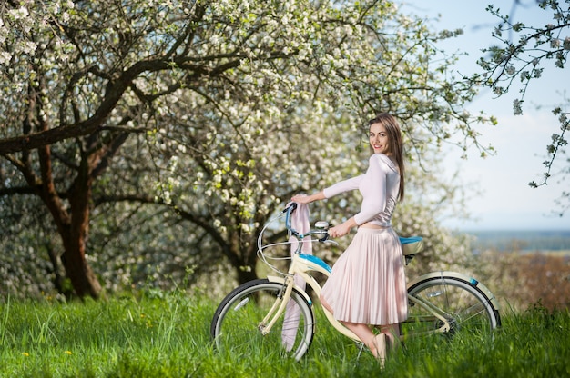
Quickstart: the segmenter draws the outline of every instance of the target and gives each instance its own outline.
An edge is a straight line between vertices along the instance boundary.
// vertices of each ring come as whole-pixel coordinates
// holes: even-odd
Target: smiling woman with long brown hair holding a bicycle
[[[365,174],[291,200],[309,204],[354,189],[361,191],[360,213],[329,230],[331,237],[341,237],[358,227],[332,267],[320,299],[383,364],[386,343],[396,343],[399,323],[407,318],[408,310],[402,245],[392,230],[392,212],[404,193],[400,126],[392,115],[378,114],[369,122],[369,139],[373,154]],[[369,325],[380,333],[374,335]]]

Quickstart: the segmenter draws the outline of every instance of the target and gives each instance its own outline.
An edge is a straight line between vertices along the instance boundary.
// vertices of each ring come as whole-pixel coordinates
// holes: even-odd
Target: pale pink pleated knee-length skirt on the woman
[[[335,319],[387,325],[408,317],[402,245],[391,228],[359,228],[321,295]]]

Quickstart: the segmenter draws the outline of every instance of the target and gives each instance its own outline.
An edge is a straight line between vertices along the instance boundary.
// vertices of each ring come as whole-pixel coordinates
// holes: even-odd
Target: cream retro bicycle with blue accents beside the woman
[[[321,285],[311,275],[319,272],[326,277],[331,267],[319,257],[302,253],[302,244],[331,242],[327,222],[317,222],[315,228],[300,234],[291,227],[290,215],[296,209],[293,203],[278,217],[265,225],[258,238],[261,261],[279,275],[253,280],[239,285],[219,304],[214,313],[210,334],[218,351],[249,357],[254,353],[281,353],[299,361],[307,353],[315,333],[315,315],[310,295],[296,284],[300,277],[310,286],[318,299]],[[275,219],[285,217],[289,234],[299,243],[290,259],[288,271],[281,272],[272,257],[265,253],[269,247],[280,244],[262,244],[263,232]],[[318,236],[318,239],[309,236]],[[402,258],[406,265],[422,250],[422,237],[401,237]],[[332,242],[334,243],[334,242]],[[282,259],[282,257],[281,257]],[[475,278],[455,272],[424,274],[407,285],[408,319],[402,323],[401,339],[432,333],[458,332],[488,333],[501,325],[499,304],[494,294]],[[340,333],[361,345],[361,340],[334,319],[321,305],[329,323]]]

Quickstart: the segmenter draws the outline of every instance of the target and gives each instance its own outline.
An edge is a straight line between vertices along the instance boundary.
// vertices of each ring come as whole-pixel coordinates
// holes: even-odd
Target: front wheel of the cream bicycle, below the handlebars
[[[268,334],[260,331],[263,319],[282,293],[283,284],[267,279],[250,281],[229,293],[219,304],[210,327],[216,349],[238,358],[280,353],[299,361],[314,334],[312,309],[300,292],[293,289],[287,312]]]

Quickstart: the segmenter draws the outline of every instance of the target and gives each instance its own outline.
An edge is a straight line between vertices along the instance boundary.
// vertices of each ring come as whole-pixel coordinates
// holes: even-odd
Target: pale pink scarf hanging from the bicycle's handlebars
[[[290,204],[287,204],[289,207]],[[307,204],[297,204],[297,209],[291,214],[291,227],[300,234],[305,234],[310,231],[309,222],[309,206]],[[290,253],[294,254],[299,246],[299,241],[294,236],[290,236]],[[312,254],[312,242],[310,236],[303,238],[301,245],[303,254]],[[305,281],[297,274],[294,276],[295,284],[301,289],[305,289]],[[283,321],[283,329],[281,330],[281,342],[285,349],[289,352],[295,343],[295,335],[299,326],[299,306],[294,301],[287,303],[285,310],[285,319]]]

